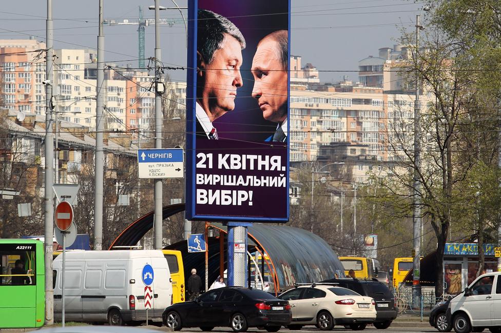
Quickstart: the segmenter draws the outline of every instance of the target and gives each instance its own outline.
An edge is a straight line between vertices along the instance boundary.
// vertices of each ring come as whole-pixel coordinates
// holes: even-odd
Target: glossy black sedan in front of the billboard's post
[[[200,327],[210,331],[216,326],[229,326],[235,332],[245,332],[248,327],[264,327],[276,332],[280,326],[291,323],[291,306],[271,294],[241,287],[209,290],[195,301],[177,303],[165,309],[163,323],[180,330],[183,327]]]

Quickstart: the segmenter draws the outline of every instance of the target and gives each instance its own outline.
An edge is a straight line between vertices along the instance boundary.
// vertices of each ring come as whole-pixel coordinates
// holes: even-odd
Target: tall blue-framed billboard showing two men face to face
[[[290,0],[188,12],[186,218],[286,222]]]

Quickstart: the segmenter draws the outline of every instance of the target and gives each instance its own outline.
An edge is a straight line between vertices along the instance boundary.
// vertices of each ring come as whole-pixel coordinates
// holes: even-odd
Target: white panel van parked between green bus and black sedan
[[[162,312],[172,304],[172,281],[161,250],[66,252],[65,320],[110,325],[146,321],[142,280],[146,264],[153,268],[148,318],[161,324]],[[54,319],[62,320],[62,254],[53,267]]]

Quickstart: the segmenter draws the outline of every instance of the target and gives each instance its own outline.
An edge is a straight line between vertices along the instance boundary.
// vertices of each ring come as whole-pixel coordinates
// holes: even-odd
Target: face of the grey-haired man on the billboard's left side
[[[199,75],[205,76],[202,100],[208,100],[209,110],[206,112],[214,117],[211,120],[235,109],[237,88],[243,85],[241,45],[235,37],[224,35],[223,45],[214,52],[213,61],[210,64],[202,61],[204,71],[199,71]]]

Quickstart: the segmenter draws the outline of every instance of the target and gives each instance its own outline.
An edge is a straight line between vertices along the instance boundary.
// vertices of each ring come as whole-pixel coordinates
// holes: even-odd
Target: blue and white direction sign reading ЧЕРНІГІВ
[[[139,178],[183,178],[183,149],[139,149],[138,170]]]

